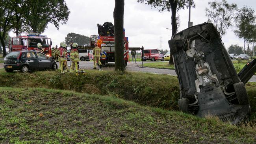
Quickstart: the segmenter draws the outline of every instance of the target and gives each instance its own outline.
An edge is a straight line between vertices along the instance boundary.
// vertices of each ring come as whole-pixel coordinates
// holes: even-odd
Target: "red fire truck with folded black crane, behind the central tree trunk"
[[[91,46],[78,46],[80,49],[92,50],[95,42],[98,47],[101,48],[100,62],[105,65],[108,62],[115,62],[115,37],[114,37],[114,26],[111,22],[105,22],[102,25],[97,24],[98,34],[91,35]],[[125,34],[125,30],[124,30]],[[124,61],[125,65],[129,61],[129,42],[128,37],[124,37]]]

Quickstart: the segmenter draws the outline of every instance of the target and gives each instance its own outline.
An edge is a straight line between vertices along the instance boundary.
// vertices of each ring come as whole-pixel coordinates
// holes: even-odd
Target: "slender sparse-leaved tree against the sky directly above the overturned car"
[[[205,8],[208,22],[213,23],[222,38],[222,36],[226,34],[226,30],[232,26],[234,22],[237,5],[228,4],[226,0],[222,0],[222,2],[208,2],[208,4],[210,8]]]

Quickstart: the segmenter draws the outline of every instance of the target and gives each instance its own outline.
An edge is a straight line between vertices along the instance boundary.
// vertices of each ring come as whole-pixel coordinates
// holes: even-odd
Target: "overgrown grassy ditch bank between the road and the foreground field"
[[[178,110],[180,89],[176,76],[112,71],[86,70],[85,75],[60,74],[56,71],[35,71],[22,74],[0,70],[0,87],[48,88],[72,90],[87,94],[111,95],[143,105]],[[256,118],[256,83],[247,83],[250,120]]]

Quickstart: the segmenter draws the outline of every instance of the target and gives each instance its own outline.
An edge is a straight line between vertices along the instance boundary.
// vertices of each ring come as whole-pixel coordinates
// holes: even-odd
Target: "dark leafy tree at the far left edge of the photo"
[[[3,57],[6,56],[6,37],[13,28],[11,24],[13,10],[13,0],[0,1],[0,41],[3,48]]]

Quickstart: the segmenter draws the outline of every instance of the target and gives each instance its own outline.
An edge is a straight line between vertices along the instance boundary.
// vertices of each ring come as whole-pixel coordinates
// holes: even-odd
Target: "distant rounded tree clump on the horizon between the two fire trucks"
[[[78,43],[79,46],[88,46],[90,44],[90,38],[85,35],[80,35],[77,33],[68,33],[65,37],[65,43]]]

